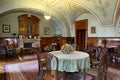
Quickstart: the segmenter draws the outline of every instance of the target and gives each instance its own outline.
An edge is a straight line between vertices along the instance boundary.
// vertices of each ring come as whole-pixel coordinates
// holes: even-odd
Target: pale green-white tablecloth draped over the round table
[[[89,54],[80,51],[74,51],[71,54],[64,54],[61,51],[50,52],[59,60],[59,71],[78,72],[88,70],[90,68]],[[55,69],[56,61],[52,60],[52,69]]]

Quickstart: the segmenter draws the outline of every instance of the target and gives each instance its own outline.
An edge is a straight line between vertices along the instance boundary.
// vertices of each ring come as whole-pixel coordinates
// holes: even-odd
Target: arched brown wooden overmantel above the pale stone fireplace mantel
[[[28,14],[23,14],[18,17],[19,20],[19,34],[24,36],[31,35],[32,37],[39,34],[39,18]]]

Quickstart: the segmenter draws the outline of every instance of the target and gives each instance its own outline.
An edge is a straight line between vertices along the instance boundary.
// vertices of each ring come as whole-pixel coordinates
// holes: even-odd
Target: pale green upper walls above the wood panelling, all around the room
[[[17,33],[17,34],[19,33],[18,16],[21,15],[21,14],[23,14],[23,13],[19,13],[19,14],[14,13],[14,14],[11,14],[11,15],[0,17],[0,37],[13,37],[12,33]],[[83,15],[79,16],[76,19],[76,21],[83,20],[83,19],[88,19],[88,37],[120,37],[120,32],[118,32],[118,28],[120,28],[120,16],[117,20],[116,25],[112,26],[112,27],[111,26],[107,26],[107,27],[103,26],[90,13],[86,13],[86,14],[83,14]],[[2,25],[3,24],[11,25],[10,33],[3,33],[3,31],[2,31]],[[40,19],[40,24],[39,24],[39,35],[41,37],[52,37],[52,36],[54,36],[57,33],[57,31],[55,29],[55,26],[52,22],[50,22],[50,21],[46,22],[43,18],[41,18]],[[71,30],[71,36],[72,37],[75,36],[74,26],[75,25],[73,23],[73,28]],[[95,34],[91,34],[91,32],[90,32],[90,28],[92,26],[96,27],[96,33]],[[49,35],[44,35],[44,27],[49,27],[50,28],[50,34]],[[65,29],[63,29],[63,30],[65,30]],[[59,31],[59,32],[64,32],[64,31]],[[17,35],[16,35],[16,37],[17,37]],[[67,37],[67,36],[65,36],[65,37]]]

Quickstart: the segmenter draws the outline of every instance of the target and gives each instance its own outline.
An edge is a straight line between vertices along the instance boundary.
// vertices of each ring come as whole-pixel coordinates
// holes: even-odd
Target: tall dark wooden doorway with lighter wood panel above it
[[[85,51],[87,44],[87,28],[88,28],[88,20],[80,20],[75,22],[75,43],[76,50]]]

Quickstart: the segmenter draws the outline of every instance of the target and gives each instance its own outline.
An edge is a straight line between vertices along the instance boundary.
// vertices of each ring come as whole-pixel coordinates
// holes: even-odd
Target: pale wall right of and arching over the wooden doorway
[[[103,26],[98,20],[90,13],[79,16],[76,21],[88,19],[88,37],[120,37],[118,27],[120,27],[120,17],[117,20],[116,26]],[[96,27],[96,33],[91,34],[91,27]]]

